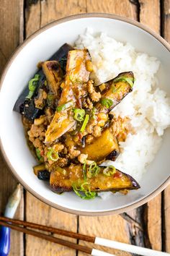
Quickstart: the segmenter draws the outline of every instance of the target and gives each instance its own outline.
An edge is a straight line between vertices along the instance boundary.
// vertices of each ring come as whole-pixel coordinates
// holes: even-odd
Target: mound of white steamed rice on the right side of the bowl
[[[161,146],[164,129],[170,125],[170,98],[158,88],[156,77],[160,62],[105,33],[94,35],[91,29],[79,36],[76,47],[88,48],[94,64],[92,77],[97,84],[116,77],[120,72],[133,71],[135,74],[133,93],[114,108],[114,113],[129,116],[136,133],[120,142],[121,154],[114,165],[140,182],[146,166],[153,161]]]

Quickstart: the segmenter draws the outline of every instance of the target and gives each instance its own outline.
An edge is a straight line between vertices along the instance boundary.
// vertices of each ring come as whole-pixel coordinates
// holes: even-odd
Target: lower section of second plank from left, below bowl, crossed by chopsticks
[[[53,226],[58,229],[66,229],[76,232],[77,217],[68,213],[63,213],[55,210],[45,203],[40,202],[35,197],[27,192],[26,195],[26,221],[35,222],[37,224]],[[58,237],[58,236],[57,236]],[[60,236],[62,238],[62,236]],[[76,242],[76,239],[68,241]],[[76,251],[63,247],[58,244],[53,244],[45,240],[26,236],[26,255],[27,256],[76,256]]]

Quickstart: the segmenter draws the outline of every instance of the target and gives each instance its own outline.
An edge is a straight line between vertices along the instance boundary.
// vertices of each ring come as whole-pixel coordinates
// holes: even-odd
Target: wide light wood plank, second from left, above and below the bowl
[[[27,5],[25,10],[26,17],[26,36],[31,35],[43,25],[68,14],[80,12],[81,4],[84,1],[37,1],[36,4]],[[83,7],[82,7],[82,10]],[[36,179],[36,177],[35,177]],[[26,195],[26,219],[35,223],[55,226],[71,231],[77,230],[77,216],[62,213],[59,210],[50,208],[48,205],[37,200],[27,192]],[[33,209],[33,210],[32,210]],[[71,239],[75,242],[75,240]],[[66,247],[52,244],[50,242],[26,236],[26,255],[27,256],[76,256],[76,251]]]

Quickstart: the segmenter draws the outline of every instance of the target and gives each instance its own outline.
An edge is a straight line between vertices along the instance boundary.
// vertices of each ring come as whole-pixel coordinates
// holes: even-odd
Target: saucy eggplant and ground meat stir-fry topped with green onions
[[[130,132],[130,120],[112,110],[133,90],[133,72],[95,86],[89,51],[67,43],[38,68],[14,106],[39,161],[33,167],[38,179],[48,180],[54,192],[74,191],[83,199],[138,189],[133,177],[102,164],[116,160]]]

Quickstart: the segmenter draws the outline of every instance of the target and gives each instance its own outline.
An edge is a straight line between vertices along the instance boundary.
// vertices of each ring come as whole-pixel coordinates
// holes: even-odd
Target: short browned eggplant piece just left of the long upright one
[[[42,71],[48,81],[50,91],[57,95],[61,85],[61,78],[63,77],[61,65],[58,61],[44,61],[42,62]]]

